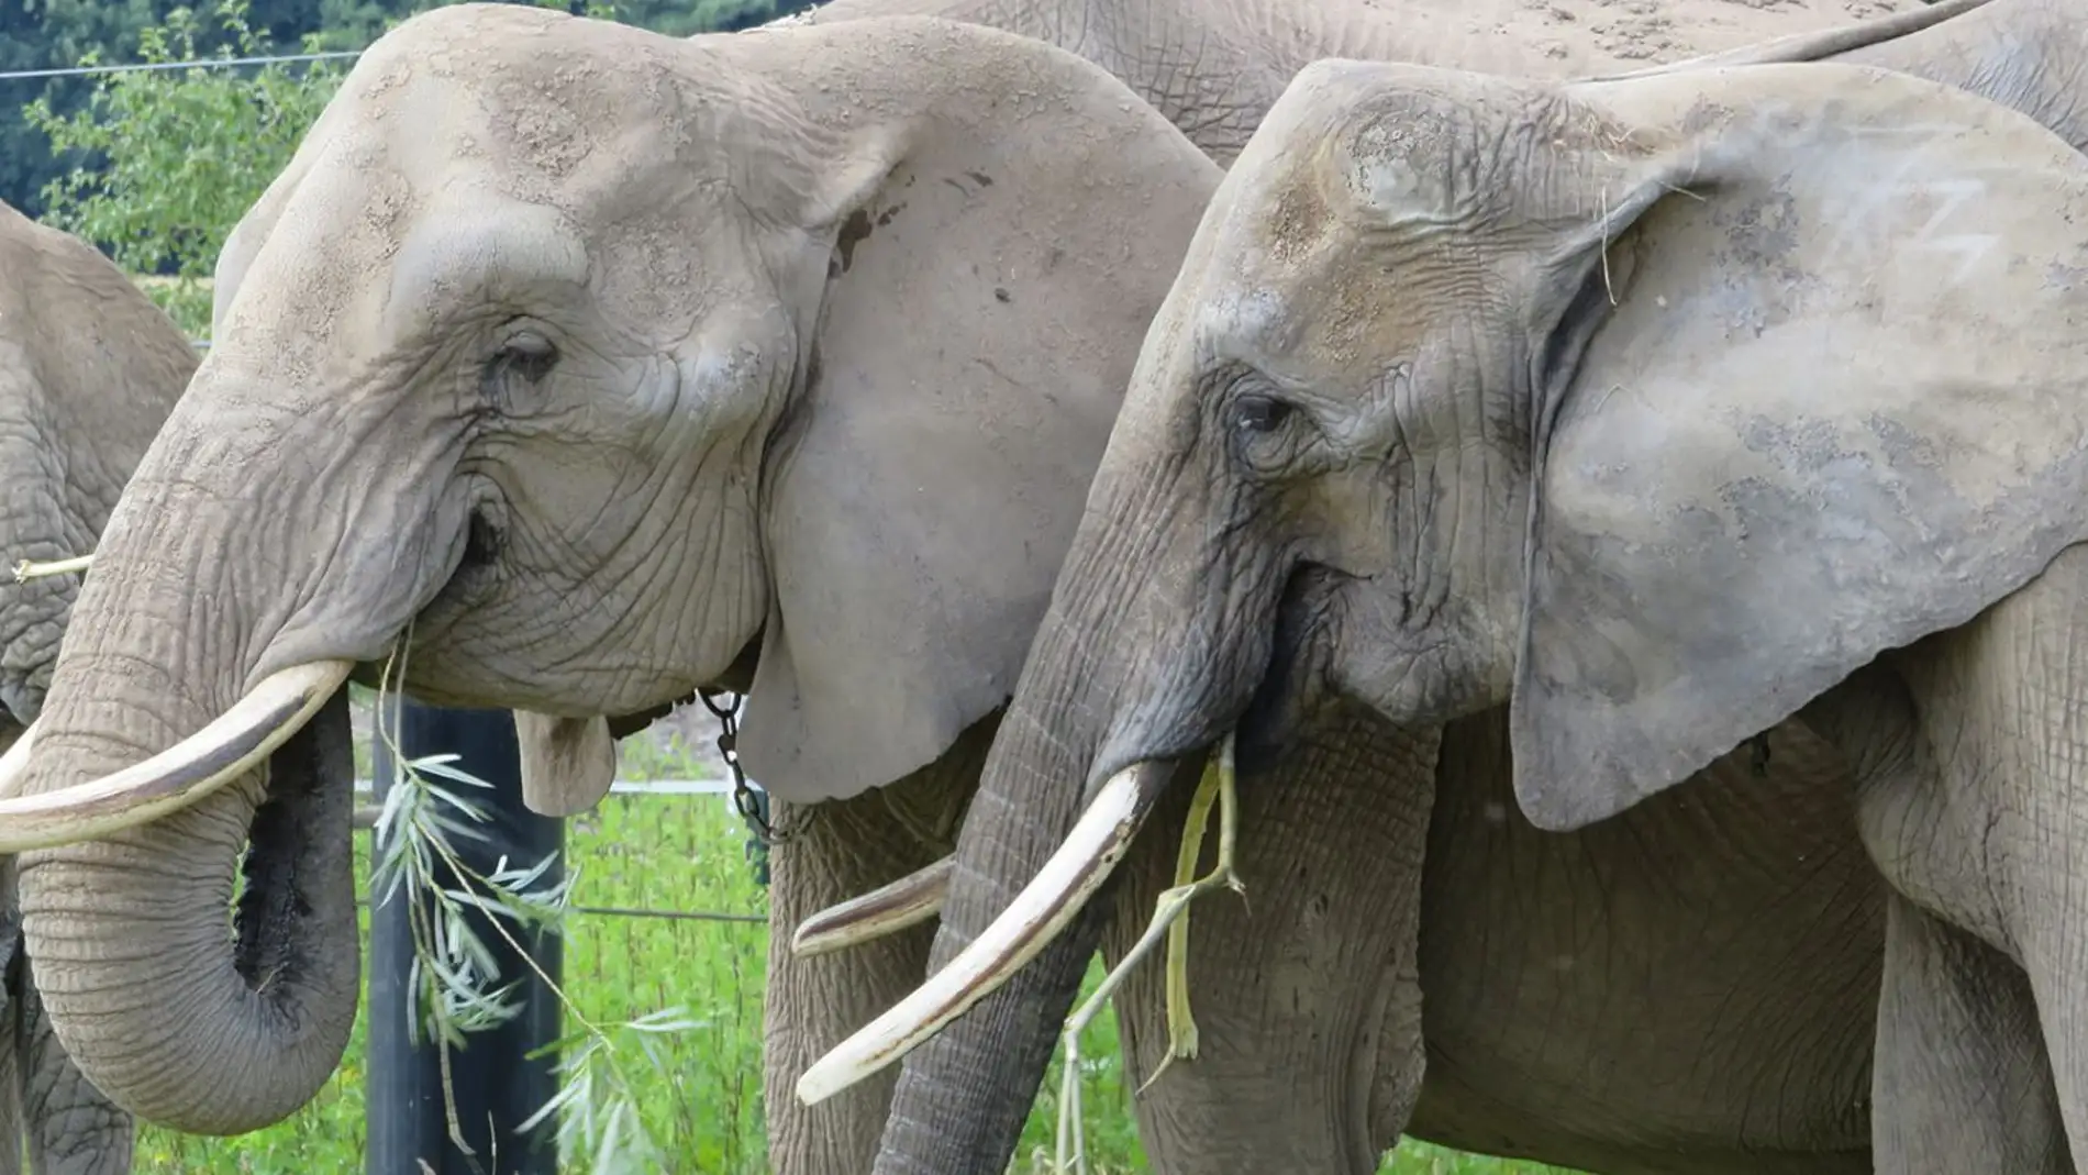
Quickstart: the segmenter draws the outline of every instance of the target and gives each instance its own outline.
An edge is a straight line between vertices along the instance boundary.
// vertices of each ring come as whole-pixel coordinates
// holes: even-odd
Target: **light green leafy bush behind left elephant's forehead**
[[[226,31],[217,58],[265,56],[267,40],[246,23],[248,0],[215,0],[209,17]],[[205,17],[175,8],[140,31],[148,65],[198,56]],[[317,38],[305,38],[317,52]],[[96,65],[88,52],[81,65]],[[232,225],[290,161],[299,140],[345,75],[345,63],[144,69],[96,77],[88,104],[52,113],[46,98],[23,109],[54,150],[79,163],[44,186],[44,219],[79,234],[132,273],[167,273],[152,298],[186,330],[209,332],[205,278]]]

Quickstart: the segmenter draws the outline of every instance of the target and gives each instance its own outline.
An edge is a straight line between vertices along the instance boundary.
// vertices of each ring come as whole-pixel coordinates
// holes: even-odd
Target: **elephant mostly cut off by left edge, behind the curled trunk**
[[[0,563],[94,549],[196,353],[106,257],[0,205]],[[0,751],[44,705],[77,576],[0,582]],[[132,1119],[42,1014],[0,858],[0,1173],[132,1169]]]

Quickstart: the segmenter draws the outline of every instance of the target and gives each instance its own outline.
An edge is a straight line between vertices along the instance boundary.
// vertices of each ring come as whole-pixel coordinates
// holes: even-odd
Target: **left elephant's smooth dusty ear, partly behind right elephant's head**
[[[1098,67],[929,19],[789,40],[846,134],[806,386],[766,474],[741,756],[791,801],[933,762],[1015,691],[1146,321],[1219,169]],[[818,121],[814,117],[812,121]]]

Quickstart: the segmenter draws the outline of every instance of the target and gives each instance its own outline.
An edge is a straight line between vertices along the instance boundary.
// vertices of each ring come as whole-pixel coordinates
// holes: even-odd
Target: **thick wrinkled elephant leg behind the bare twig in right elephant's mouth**
[[[1236,868],[1247,897],[1190,914],[1196,1058],[1138,1098],[1155,1171],[1370,1175],[1422,1079],[1416,927],[1437,733],[1334,705],[1274,758],[1242,747]],[[1257,764],[1255,760],[1267,760]],[[1138,939],[1171,885],[1190,789],[1148,822],[1102,952]],[[1215,818],[1199,877],[1215,860]],[[1161,954],[1117,991],[1125,1081],[1167,1056]]]

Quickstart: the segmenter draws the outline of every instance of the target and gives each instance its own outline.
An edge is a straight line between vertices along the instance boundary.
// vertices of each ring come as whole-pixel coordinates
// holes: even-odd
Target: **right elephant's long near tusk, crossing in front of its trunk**
[[[906,1056],[1050,945],[1109,881],[1169,774],[1171,762],[1144,762],[1109,776],[1059,852],[994,925],[927,983],[812,1062],[798,1079],[798,1100],[816,1106]]]

